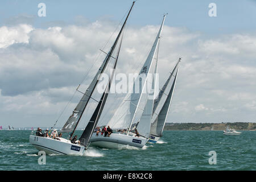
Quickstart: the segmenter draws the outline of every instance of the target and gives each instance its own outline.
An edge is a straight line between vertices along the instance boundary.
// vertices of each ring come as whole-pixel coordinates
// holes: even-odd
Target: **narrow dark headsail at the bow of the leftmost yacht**
[[[108,98],[110,86],[111,86],[111,83],[112,83],[112,80],[113,80],[115,67],[117,65],[117,60],[118,60],[121,44],[122,44],[122,39],[121,39],[119,47],[118,47],[117,56],[116,56],[115,61],[114,61],[113,71],[112,71],[111,76],[109,78],[108,85],[106,86],[105,92],[102,94],[101,100],[100,100],[100,102],[98,102],[98,105],[97,105],[96,109],[94,110],[92,118],[90,118],[90,121],[88,122],[87,126],[85,127],[84,132],[82,133],[82,135],[79,139],[80,144],[82,146],[85,146],[85,147],[89,146],[90,137],[92,137],[93,131],[95,130],[95,128],[97,126],[98,120],[100,119],[102,110],[105,106],[106,100]]]

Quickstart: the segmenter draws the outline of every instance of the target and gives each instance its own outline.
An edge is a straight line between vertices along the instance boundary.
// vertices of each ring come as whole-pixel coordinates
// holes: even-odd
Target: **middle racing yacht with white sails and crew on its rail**
[[[127,146],[142,148],[148,142],[148,139],[150,138],[151,115],[154,106],[155,81],[151,82],[150,91],[146,90],[146,85],[148,84],[147,80],[150,79],[150,76],[152,80],[154,80],[152,75],[155,75],[154,73],[156,73],[157,57],[155,56],[158,56],[158,53],[156,54],[156,52],[158,51],[160,35],[163,30],[165,18],[166,15],[163,16],[162,24],[156,35],[155,42],[139,72],[139,76],[134,81],[133,91],[126,95],[125,99],[108,122],[107,126],[110,126],[112,129],[117,131],[122,129],[127,132],[112,133],[109,137],[94,133],[90,139],[90,143],[93,146],[117,149],[127,148]],[[138,93],[134,92],[136,85],[141,85]],[[141,109],[143,109],[143,111],[141,111]],[[139,136],[133,133],[131,129],[131,126],[136,123],[135,118],[139,118],[139,122],[135,124]]]

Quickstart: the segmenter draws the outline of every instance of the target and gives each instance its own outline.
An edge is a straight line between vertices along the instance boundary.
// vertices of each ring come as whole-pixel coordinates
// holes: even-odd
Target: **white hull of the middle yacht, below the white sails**
[[[92,146],[113,149],[122,149],[129,146],[142,148],[147,141],[147,138],[134,137],[121,133],[112,133],[110,137],[104,137],[104,134],[101,135],[100,133],[96,136],[96,133],[93,133],[92,138],[90,138],[90,144]]]

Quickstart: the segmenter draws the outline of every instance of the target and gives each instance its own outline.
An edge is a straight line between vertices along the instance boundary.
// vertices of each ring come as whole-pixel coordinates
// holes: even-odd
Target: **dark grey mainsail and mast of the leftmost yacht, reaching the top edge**
[[[133,2],[134,5],[134,2]],[[130,15],[131,9],[133,8],[133,5],[130,8],[130,11],[125,19],[125,22],[122,25],[121,30],[119,31],[119,34],[117,36],[117,38],[115,39],[115,42],[113,44],[113,46],[110,48],[110,51],[108,53],[108,55],[106,56],[104,62],[101,64],[100,69],[98,70],[98,72],[96,73],[96,76],[93,78],[93,81],[90,83],[88,89],[86,90],[86,92],[84,93],[84,96],[82,96],[79,104],[76,106],[76,108],[73,110],[73,113],[71,114],[71,116],[68,118],[68,121],[65,123],[65,125],[63,126],[63,128],[61,129],[62,132],[71,132],[71,137],[73,135],[73,133],[76,130],[76,127],[82,117],[82,114],[84,113],[84,110],[90,100],[90,97],[92,96],[92,93],[94,91],[94,89],[96,88],[97,84],[98,84],[98,77],[100,76],[101,73],[103,73],[105,71],[106,65],[109,63],[110,57],[112,57],[112,53],[115,49],[115,46],[117,46],[118,40],[120,38],[120,35],[122,34],[123,31],[123,27],[125,27],[125,24],[127,22],[127,19]]]

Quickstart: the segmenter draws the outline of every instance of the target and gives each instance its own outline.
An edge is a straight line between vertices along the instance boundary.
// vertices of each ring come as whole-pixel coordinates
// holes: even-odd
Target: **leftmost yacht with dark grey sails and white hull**
[[[98,119],[100,119],[102,110],[104,109],[106,99],[108,98],[110,85],[112,83],[115,67],[116,67],[117,61],[118,61],[119,51],[121,49],[123,29],[126,25],[127,19],[131,13],[131,9],[133,8],[134,3],[135,2],[133,2],[133,4],[130,7],[129,13],[126,16],[125,22],[122,24],[121,30],[119,31],[119,34],[117,35],[117,38],[115,39],[113,46],[110,48],[110,51],[108,53],[106,53],[105,60],[101,64],[100,69],[98,69],[96,76],[94,76],[94,78],[93,78],[92,82],[90,83],[90,85],[88,86],[88,89],[86,90],[86,92],[82,93],[80,90],[78,90],[80,85],[76,89],[78,92],[82,93],[83,96],[82,96],[79,104],[73,110],[71,116],[68,118],[67,122],[61,129],[62,133],[64,133],[64,132],[71,133],[69,135],[69,138],[65,139],[65,138],[58,137],[58,139],[52,139],[52,138],[48,138],[48,137],[39,137],[39,136],[31,134],[30,135],[30,143],[35,148],[37,148],[39,151],[43,150],[46,152],[46,154],[83,155],[83,152],[88,148],[88,146],[90,144],[89,140],[92,136],[94,129],[97,126]],[[117,48],[117,50],[115,50],[116,48]],[[114,55],[114,51],[116,51],[116,55]],[[91,96],[94,92],[94,89],[96,88],[96,86],[98,84],[98,80],[100,80],[101,74],[104,73],[105,68],[107,67],[110,60],[113,60],[114,63],[113,63],[113,71],[112,71],[112,73],[110,73],[110,77],[108,80],[108,85],[106,86],[104,93],[101,96],[100,101],[98,101],[98,105],[97,105],[96,109],[94,110],[94,113],[93,113],[92,117],[90,118],[90,121],[86,125],[81,137],[79,138],[79,143],[71,143],[70,139],[72,138],[73,134],[75,133],[77,125],[79,124],[79,122],[81,120],[82,114],[84,113],[90,98],[92,98]],[[55,124],[56,124],[56,122],[55,122]],[[55,125],[53,125],[53,126],[55,126]]]

